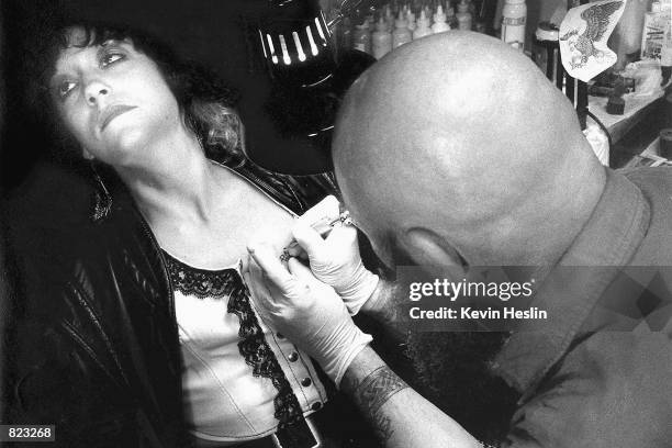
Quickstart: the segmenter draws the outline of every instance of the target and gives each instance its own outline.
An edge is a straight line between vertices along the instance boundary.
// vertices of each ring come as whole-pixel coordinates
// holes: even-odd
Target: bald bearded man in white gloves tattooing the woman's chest
[[[347,94],[333,146],[343,201],[388,266],[418,265],[437,278],[455,267],[542,272],[533,304],[549,318],[493,337],[499,341],[494,350],[483,346],[486,356],[472,351],[488,378],[503,384],[481,393],[514,392],[511,415],[504,407],[497,416],[486,406],[477,411],[483,426],[507,422],[496,439],[479,440],[488,433],[470,434],[456,414],[408,388],[352,323],[346,298],[357,295],[358,284],[377,281],[358,305],[373,315],[385,314],[395,293],[363,272],[357,255],[343,255],[354,229],[338,227],[322,239],[298,225],[312,271],[293,258],[284,267],[268,245],[250,246],[271,283],[272,296],[257,303],[262,315],[350,394],[384,446],[669,446],[670,170],[624,176],[602,167],[572,105],[531,61],[499,41],[460,32],[404,45],[366,71]],[[585,269],[568,276],[565,266]],[[657,268],[635,281],[619,268],[627,266]],[[618,306],[628,301],[648,309],[624,317]],[[466,359],[451,356],[459,338],[450,337],[416,335],[410,343],[434,389],[460,388],[443,379]],[[469,396],[478,396],[483,383],[469,372],[477,382]]]

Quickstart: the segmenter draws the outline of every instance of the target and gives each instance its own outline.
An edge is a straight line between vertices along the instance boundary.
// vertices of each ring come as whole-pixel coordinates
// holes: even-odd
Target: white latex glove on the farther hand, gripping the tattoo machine
[[[299,220],[292,234],[306,251],[315,277],[336,290],[355,315],[369,300],[379,278],[365,268],[359,255],[357,229],[352,225],[336,224],[323,238],[305,221]]]

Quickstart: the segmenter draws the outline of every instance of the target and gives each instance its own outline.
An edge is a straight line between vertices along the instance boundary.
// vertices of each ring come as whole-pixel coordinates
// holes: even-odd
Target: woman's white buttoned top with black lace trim
[[[327,397],[311,360],[254,311],[246,284],[254,280],[240,261],[204,270],[167,253],[165,258],[184,365],[186,418],[197,438],[235,445],[275,433],[279,407],[300,407],[304,416],[322,407]]]

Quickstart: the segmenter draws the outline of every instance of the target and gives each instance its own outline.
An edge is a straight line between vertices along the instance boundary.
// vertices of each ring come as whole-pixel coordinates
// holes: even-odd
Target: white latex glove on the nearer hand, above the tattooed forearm
[[[324,369],[338,387],[352,359],[372,340],[359,329],[334,289],[317,280],[309,268],[290,258],[285,268],[271,246],[256,243],[248,248],[255,262],[253,276],[267,282],[250,282],[257,312]],[[268,294],[254,288],[266,283]]]

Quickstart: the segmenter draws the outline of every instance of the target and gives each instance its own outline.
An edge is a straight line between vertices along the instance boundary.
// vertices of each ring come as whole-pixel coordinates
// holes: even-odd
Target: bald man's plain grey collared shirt
[[[625,268],[623,268],[625,266]],[[505,447],[672,446],[672,169],[607,170],[589,223],[495,359]]]

